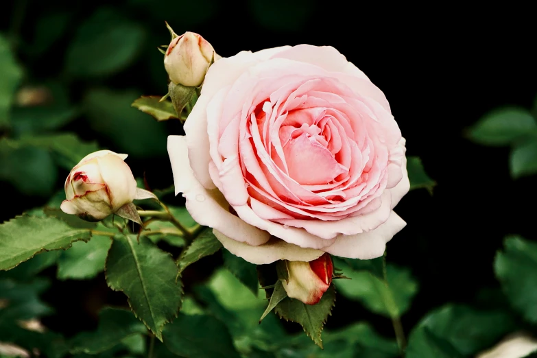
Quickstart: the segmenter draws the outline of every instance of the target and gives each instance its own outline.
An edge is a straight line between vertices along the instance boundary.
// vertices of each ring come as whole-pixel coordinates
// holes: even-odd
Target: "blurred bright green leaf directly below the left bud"
[[[94,278],[104,271],[104,263],[112,241],[110,237],[96,236],[85,243],[73,243],[70,250],[62,252],[58,259],[58,274],[60,280],[69,278],[85,280]]]

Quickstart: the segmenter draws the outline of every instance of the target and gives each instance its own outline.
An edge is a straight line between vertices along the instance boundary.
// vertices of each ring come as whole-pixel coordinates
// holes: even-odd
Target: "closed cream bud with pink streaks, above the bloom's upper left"
[[[185,32],[171,40],[164,56],[164,67],[174,84],[197,87],[203,83],[211,60],[220,58],[202,36]]]

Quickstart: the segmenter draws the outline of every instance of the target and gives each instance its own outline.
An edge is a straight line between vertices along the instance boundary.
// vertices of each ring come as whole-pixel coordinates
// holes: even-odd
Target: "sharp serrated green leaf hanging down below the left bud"
[[[176,284],[177,267],[171,256],[147,237],[115,237],[106,259],[106,282],[123,291],[129,305],[154,335],[162,340],[163,326],[176,315],[182,288]]]

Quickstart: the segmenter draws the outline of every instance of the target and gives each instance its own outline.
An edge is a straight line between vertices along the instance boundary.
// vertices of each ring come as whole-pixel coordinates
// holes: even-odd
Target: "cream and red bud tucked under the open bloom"
[[[290,298],[296,298],[306,305],[315,305],[332,283],[334,267],[330,254],[324,253],[310,262],[289,261],[289,282],[283,288]]]

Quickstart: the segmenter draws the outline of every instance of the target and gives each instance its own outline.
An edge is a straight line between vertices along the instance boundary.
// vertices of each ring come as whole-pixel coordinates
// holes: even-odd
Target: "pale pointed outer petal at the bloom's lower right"
[[[357,235],[339,235],[332,246],[323,250],[350,259],[374,259],[383,255],[387,241],[390,241],[406,224],[392,211],[387,221],[375,230]]]

